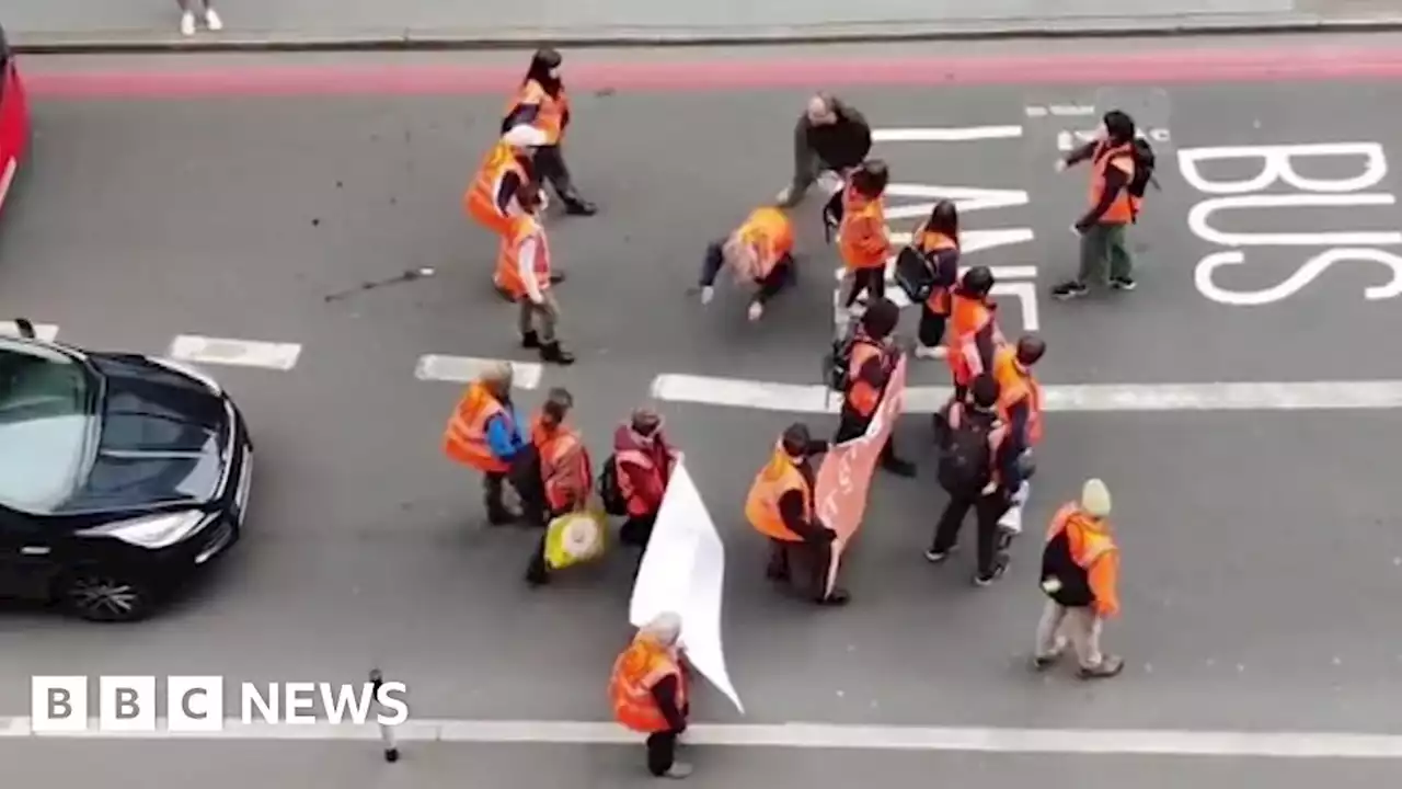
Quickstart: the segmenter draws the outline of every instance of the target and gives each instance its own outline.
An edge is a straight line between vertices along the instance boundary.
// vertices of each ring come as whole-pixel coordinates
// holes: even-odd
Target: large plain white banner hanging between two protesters
[[[677,463],[632,587],[628,621],[642,628],[667,611],[681,616],[687,663],[743,713],[721,644],[723,592],[725,545],[691,475]]]

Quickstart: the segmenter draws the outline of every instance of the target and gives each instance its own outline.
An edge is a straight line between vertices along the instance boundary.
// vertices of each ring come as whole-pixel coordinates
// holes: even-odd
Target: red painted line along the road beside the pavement
[[[28,72],[38,98],[199,98],[502,94],[522,79],[502,66],[287,66]],[[1193,84],[1402,77],[1402,49],[1171,49],[1014,58],[749,59],[566,63],[573,90],[739,91],[815,87]]]

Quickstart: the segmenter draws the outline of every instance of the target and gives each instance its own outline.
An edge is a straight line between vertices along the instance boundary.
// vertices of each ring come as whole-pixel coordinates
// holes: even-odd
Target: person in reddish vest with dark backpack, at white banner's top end
[[[628,512],[618,539],[638,549],[638,567],[642,567],[642,555],[652,539],[662,497],[679,458],[680,452],[662,432],[662,416],[652,409],[635,410],[632,418],[614,431],[618,493]]]

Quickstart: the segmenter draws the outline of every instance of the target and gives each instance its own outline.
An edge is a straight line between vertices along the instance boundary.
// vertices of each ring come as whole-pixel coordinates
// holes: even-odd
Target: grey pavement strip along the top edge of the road
[[[217,0],[216,0],[217,1]],[[1402,0],[226,0],[184,39],[175,0],[6,0],[24,49],[865,41],[1402,27]]]

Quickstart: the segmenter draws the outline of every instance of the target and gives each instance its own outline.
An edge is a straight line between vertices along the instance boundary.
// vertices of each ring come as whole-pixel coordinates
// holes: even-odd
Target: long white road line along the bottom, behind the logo
[[[222,731],[87,731],[35,734],[28,717],[0,717],[0,737],[79,740],[303,740],[377,741],[374,724],[251,724],[227,720]],[[638,745],[641,737],[614,723],[571,720],[411,720],[394,727],[400,743]],[[958,751],[1237,757],[1293,760],[1402,760],[1402,737],[1333,731],[1196,731],[1175,729],[997,729],[974,726],[852,726],[831,723],[698,723],[695,745],[859,751]]]

